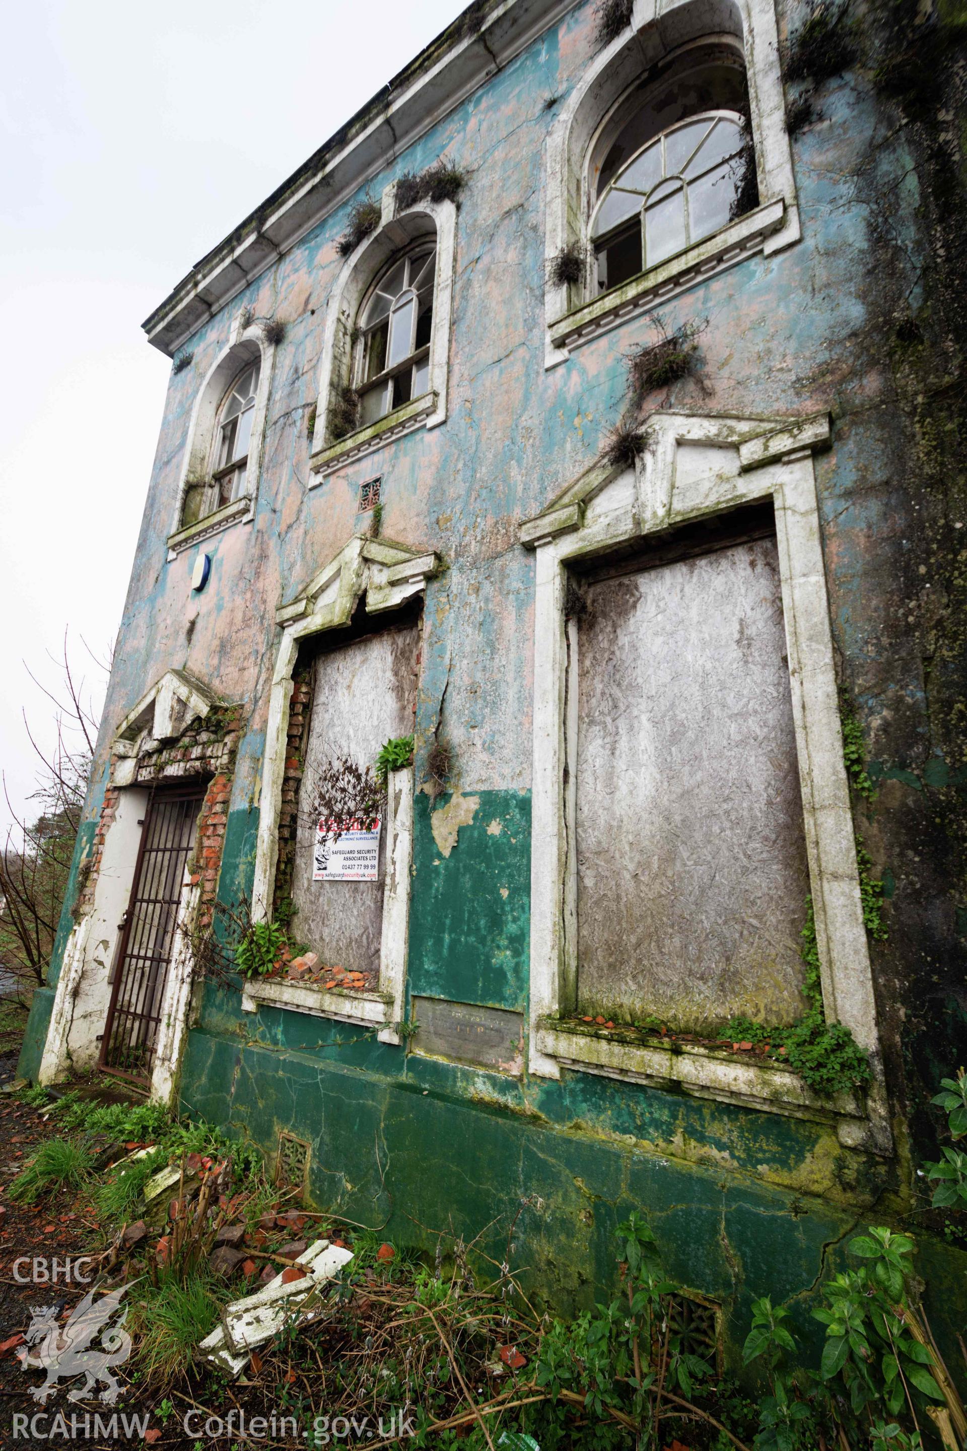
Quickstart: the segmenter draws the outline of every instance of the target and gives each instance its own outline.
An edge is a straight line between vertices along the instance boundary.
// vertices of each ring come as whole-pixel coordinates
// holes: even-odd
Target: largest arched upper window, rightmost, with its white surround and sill
[[[773,0],[622,15],[547,136],[545,367],[800,235]]]

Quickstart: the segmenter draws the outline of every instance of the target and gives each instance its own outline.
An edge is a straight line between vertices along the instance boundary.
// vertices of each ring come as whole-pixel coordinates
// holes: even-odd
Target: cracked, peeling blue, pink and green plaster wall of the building
[[[448,564],[426,592],[418,782],[447,689],[442,727],[454,747],[454,785],[465,798],[480,800],[473,823],[460,829],[457,846],[444,858],[431,830],[429,802],[418,798],[409,988],[510,1008],[526,1003],[529,874],[534,562],[518,546],[518,525],[592,463],[623,406],[625,354],[654,337],[648,318],[636,318],[589,342],[561,367],[544,370],[542,142],[555,106],[593,54],[593,9],[592,3],[576,6],[403,155],[387,158],[371,181],[378,194],[402,171],[419,170],[438,155],[468,173],[457,226],[449,416],[444,427],[397,440],[383,454],[352,463],[323,486],[309,489],[306,421],[316,396],[326,293],[341,266],[335,244],[348,205],[188,341],[194,361],[173,374],[170,385],[97,747],[97,785],[78,843],[80,860],[100,807],[107,743],[117,723],[164,670],[186,669],[217,683],[225,698],[245,704],[223,897],[232,900],[251,884],[278,638],[274,609],[367,521],[357,515],[360,483],[383,472],[386,535],[433,547]],[[803,7],[783,3],[779,9],[786,35],[800,22]],[[903,135],[890,139],[892,112],[874,96],[868,74],[826,83],[822,113],[823,119],[794,141],[802,244],[768,258],[748,258],[663,309],[670,329],[707,319],[699,340],[702,367],[696,377],[652,396],[648,406],[668,403],[703,414],[834,414],[834,447],[816,461],[819,509],[835,644],[880,782],[874,811],[854,805],[874,869],[887,882],[892,936],[887,945],[874,946],[874,975],[887,1077],[902,1127],[909,1096],[924,1101],[935,1078],[954,1069],[963,1045],[963,958],[957,956],[963,939],[957,932],[967,918],[963,908],[961,918],[955,917],[960,858],[951,847],[951,794],[963,781],[967,752],[953,727],[938,728],[931,704],[937,689],[934,641],[944,625],[950,582],[934,573],[937,551],[929,530],[938,505],[916,479],[910,432],[896,405],[890,319],[883,312],[890,268],[906,284],[910,279],[903,268],[915,271],[924,255],[916,157]],[[884,194],[890,197],[889,226],[883,221]],[[206,541],[212,576],[206,591],[193,595],[196,550],[171,563],[165,559],[173,490],[194,392],[226,345],[242,306],[277,316],[287,326],[270,382],[258,505],[252,524]],[[953,492],[947,503],[941,522],[950,533],[961,521],[961,503]],[[967,517],[961,522],[967,524]],[[503,823],[499,834],[487,833],[493,820]],[[68,901],[61,943],[70,930],[70,907]],[[52,981],[55,975],[57,965]],[[23,1058],[28,1066],[38,1053],[49,997],[49,988],[38,994]],[[689,1172],[697,1177],[689,1184],[700,1188],[694,1188],[687,1213],[693,1216],[690,1238],[703,1246],[702,1254],[718,1254],[721,1193],[726,1193],[721,1183],[739,1197],[763,1196],[767,1188],[770,1194],[781,1190],[786,1203],[799,1193],[823,1194],[841,1206],[877,1204],[880,1214],[902,1203],[903,1178],[895,1165],[839,1149],[822,1126],[574,1074],[560,1085],[518,1085],[412,1056],[404,1066],[402,1049],[361,1043],[341,1024],[297,1020],[296,1014],[281,1023],[277,1013],[261,1013],[257,1032],[264,1046],[258,1049],[245,1043],[249,1032],[254,1029],[241,1024],[238,995],[209,988],[202,1027],[190,1037],[184,1093],[206,1116],[223,1120],[228,1113],[242,1127],[249,1110],[242,1110],[239,1085],[248,1084],[246,1093],[254,1094],[251,1085],[258,1082],[264,1113],[257,1138],[268,1148],[278,1127],[297,1130],[300,1114],[309,1111],[294,1094],[302,1074],[318,1082],[326,1098],[335,1091],[326,1075],[335,1074],[344,1103],[368,1103],[378,1090],[384,1101],[396,1104],[393,1125],[402,1122],[399,1116],[404,1117],[415,1093],[423,1097],[416,1082],[432,1080],[426,1093],[449,1096],[462,1125],[468,1116],[474,1123],[496,1122],[507,1135],[507,1123],[518,1126],[520,1114],[544,1113],[554,1132],[542,1133],[545,1142],[554,1139],[555,1149],[541,1162],[552,1161],[555,1174],[574,1181],[578,1161],[593,1165],[586,1171],[590,1180],[629,1175],[621,1193],[636,1196],[655,1213],[658,1200],[676,1193],[670,1185],[684,1174],[681,1165],[692,1161]],[[338,1071],[328,1066],[336,1053],[342,1055]],[[216,1061],[222,1066],[209,1075]],[[226,1110],[231,1091],[235,1097]],[[319,1107],[315,1098],[307,1101]],[[502,1106],[499,1114],[510,1113],[510,1119],[491,1119],[491,1104]],[[362,1107],[360,1114],[365,1117]],[[328,1185],[338,1184],[341,1175],[365,1175],[362,1165],[370,1162],[368,1129],[355,1139],[335,1132],[335,1116],[332,1135],[328,1125],[310,1126],[325,1164],[313,1180],[320,1200],[333,1197]],[[387,1136],[389,1125],[390,1119]],[[574,1125],[587,1129],[576,1130]],[[397,1162],[409,1154],[415,1165],[426,1164],[439,1129],[413,1120],[399,1132]],[[477,1127],[467,1133],[473,1138]],[[918,1136],[906,1146],[915,1161],[928,1156],[932,1133],[934,1120],[921,1111]],[[502,1142],[500,1136],[493,1142]],[[497,1161],[500,1152],[494,1149]],[[460,1177],[457,1156],[445,1162],[442,1178],[423,1175],[428,1185]],[[535,1158],[520,1184],[541,1184],[544,1171],[536,1165]],[[410,1184],[419,1187],[416,1170]],[[491,1177],[468,1184],[468,1228],[471,1206],[480,1222],[489,1217],[484,1210],[493,1191]],[[609,1203],[621,1193],[609,1191]],[[564,1280],[584,1273],[592,1277],[594,1271],[581,1268],[580,1251],[568,1238],[568,1214],[580,1196],[568,1188],[563,1203],[567,1213],[563,1209],[552,1216],[544,1230],[548,1262],[554,1261]],[[810,1206],[809,1213],[818,1216],[815,1232],[803,1238],[796,1230],[794,1245],[780,1236],[780,1259],[786,1255],[797,1286],[812,1283],[821,1267],[819,1244],[847,1222],[841,1217],[845,1209],[834,1212],[815,1197]],[[700,1223],[707,1229],[697,1232]],[[789,1232],[789,1219],[781,1223]],[[606,1238],[600,1223],[594,1235],[592,1259],[599,1262]],[[925,1245],[925,1257],[941,1254],[942,1246],[928,1239]],[[767,1252],[765,1236],[761,1251],[752,1245],[752,1252]],[[763,1261],[755,1283],[764,1274]],[[697,1287],[712,1293],[713,1280],[710,1274],[709,1284]]]

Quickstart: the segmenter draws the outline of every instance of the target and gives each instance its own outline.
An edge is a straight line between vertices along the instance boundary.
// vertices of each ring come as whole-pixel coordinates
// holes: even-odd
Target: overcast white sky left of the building
[[[0,87],[0,765],[33,789],[70,654],[115,636],[170,363],[141,322],[460,0],[32,0]],[[26,810],[30,807],[26,804]],[[0,820],[7,820],[0,805]]]

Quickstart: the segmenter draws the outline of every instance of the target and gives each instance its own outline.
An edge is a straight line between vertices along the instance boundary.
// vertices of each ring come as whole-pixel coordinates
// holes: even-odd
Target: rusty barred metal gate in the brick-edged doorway
[[[125,1078],[151,1077],[184,865],[202,801],[197,788],[165,791],[149,800],[145,813],[100,1052],[100,1066]]]

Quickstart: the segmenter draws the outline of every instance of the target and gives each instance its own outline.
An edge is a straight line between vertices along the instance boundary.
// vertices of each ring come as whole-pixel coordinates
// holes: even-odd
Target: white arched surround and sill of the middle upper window
[[[326,302],[316,402],[316,443],[325,441],[322,447],[315,448],[309,461],[315,474],[310,486],[323,483],[336,469],[374,453],[393,438],[416,428],[436,428],[447,419],[457,206],[454,202],[418,202],[407,210],[397,210],[394,181],[384,189],[380,205],[383,209],[380,226],[346,257]],[[420,238],[431,237],[436,238],[436,276],[426,393],[403,403],[374,424],[357,428],[345,438],[326,440],[331,406],[339,389],[351,380],[352,331],[370,287],[397,252]]]

